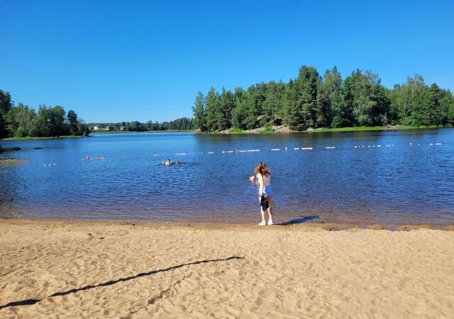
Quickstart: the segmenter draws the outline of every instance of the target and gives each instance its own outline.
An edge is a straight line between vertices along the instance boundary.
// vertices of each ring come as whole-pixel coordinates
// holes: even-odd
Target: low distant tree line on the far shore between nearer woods
[[[194,123],[192,118],[177,118],[174,121],[168,122],[153,122],[147,121],[145,123],[140,123],[139,121],[132,122],[118,122],[118,123],[89,123],[90,128],[93,128],[94,125],[102,125],[104,128],[107,126],[112,126],[116,130],[125,130],[129,132],[145,132],[152,130],[193,130]]]

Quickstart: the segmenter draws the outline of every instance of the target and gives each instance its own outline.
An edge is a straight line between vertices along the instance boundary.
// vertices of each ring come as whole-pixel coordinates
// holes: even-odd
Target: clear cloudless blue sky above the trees
[[[192,116],[197,91],[301,65],[454,90],[454,1],[0,0],[0,89],[87,122]]]

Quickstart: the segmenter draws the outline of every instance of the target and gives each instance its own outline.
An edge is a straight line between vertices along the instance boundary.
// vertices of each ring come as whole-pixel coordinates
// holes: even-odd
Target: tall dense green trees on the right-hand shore
[[[321,76],[304,65],[297,79],[234,91],[199,92],[194,127],[212,132],[288,125],[292,130],[376,125],[454,125],[454,96],[420,74],[387,89],[378,74],[356,69],[343,79],[337,67]]]

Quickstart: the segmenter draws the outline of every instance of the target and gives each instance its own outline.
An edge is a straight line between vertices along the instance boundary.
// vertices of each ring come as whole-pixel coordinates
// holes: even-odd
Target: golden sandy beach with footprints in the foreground
[[[0,220],[0,318],[454,318],[454,232]]]

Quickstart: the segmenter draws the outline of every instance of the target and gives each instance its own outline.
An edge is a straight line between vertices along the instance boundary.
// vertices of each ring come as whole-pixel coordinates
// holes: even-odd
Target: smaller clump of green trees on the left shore
[[[0,138],[88,135],[88,125],[62,106],[40,105],[38,113],[23,103],[14,105],[11,94],[0,90]]]

